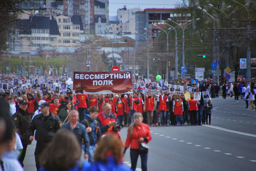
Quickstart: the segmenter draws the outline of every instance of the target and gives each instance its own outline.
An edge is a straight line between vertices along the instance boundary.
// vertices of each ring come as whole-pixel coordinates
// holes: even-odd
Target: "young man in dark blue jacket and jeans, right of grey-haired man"
[[[101,137],[101,132],[100,132],[100,126],[99,123],[96,121],[96,118],[98,116],[98,108],[95,106],[90,107],[89,113],[84,116],[84,120],[81,122],[86,128],[86,131],[89,136],[90,140],[90,153],[89,153],[89,162],[93,162],[93,155],[95,151],[95,145],[99,141]],[[84,145],[83,145],[84,149]]]

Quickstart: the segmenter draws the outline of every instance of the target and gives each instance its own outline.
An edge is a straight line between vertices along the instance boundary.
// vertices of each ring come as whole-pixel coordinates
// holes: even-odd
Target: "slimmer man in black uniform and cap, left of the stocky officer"
[[[20,136],[23,150],[20,155],[19,162],[23,165],[23,160],[26,155],[26,150],[29,144],[31,144],[31,141],[28,139],[27,136],[27,130],[28,130],[28,125],[31,122],[30,114],[28,113],[28,110],[26,110],[28,107],[28,102],[26,100],[21,100],[19,103],[19,109],[18,111],[12,115],[12,121],[14,122],[14,125],[17,129],[17,132]]]

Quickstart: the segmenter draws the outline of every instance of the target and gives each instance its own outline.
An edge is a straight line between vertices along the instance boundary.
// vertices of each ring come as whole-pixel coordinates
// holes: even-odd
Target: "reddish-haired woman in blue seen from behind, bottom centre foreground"
[[[122,163],[122,142],[114,134],[102,136],[94,152],[94,163],[83,171],[130,171]]]

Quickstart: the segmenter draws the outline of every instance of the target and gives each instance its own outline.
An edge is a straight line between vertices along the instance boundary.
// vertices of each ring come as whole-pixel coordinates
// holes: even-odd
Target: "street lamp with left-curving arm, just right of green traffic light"
[[[212,39],[213,39],[213,42],[212,42],[213,43],[212,44],[212,63],[215,63],[215,61],[216,61],[216,54],[215,54],[215,51],[216,51],[216,49],[215,49],[215,42],[216,42],[216,39],[215,39],[215,22],[217,24],[217,28],[218,28],[218,22],[205,9],[202,9],[200,6],[198,6],[197,9],[202,10],[202,12],[206,13],[213,20],[213,29],[212,29]],[[218,53],[218,43],[216,45],[217,45],[217,53]],[[218,57],[218,54],[217,54],[217,57]],[[212,80],[215,81],[215,77],[212,77]],[[216,82],[217,82],[217,84],[219,84],[219,78],[216,80]]]

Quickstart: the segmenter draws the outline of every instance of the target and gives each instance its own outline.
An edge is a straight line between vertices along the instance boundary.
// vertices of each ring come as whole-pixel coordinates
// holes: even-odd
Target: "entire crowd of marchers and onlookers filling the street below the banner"
[[[4,154],[0,151],[0,171],[8,168],[22,170],[26,148],[34,139],[37,141],[34,153],[36,168],[41,171],[96,170],[104,164],[107,168],[126,170],[122,166],[122,157],[128,147],[131,169],[136,169],[140,155],[142,170],[147,170],[148,151],[142,152],[140,148],[142,143],[151,140],[150,126],[210,125],[211,98],[218,98],[220,90],[222,98],[234,95],[239,100],[241,96],[246,108],[249,101],[252,109],[255,108],[256,90],[252,87],[256,81],[251,86],[240,82],[224,83],[221,87],[208,81],[196,82],[172,81],[166,88],[164,84],[157,86],[158,91],[144,91],[145,87],[138,85],[132,94],[73,94],[70,86],[65,93],[55,90],[44,95],[39,89],[21,97],[14,96],[12,92],[2,92],[1,105],[10,113],[13,127],[10,127],[12,135],[7,138],[9,148]],[[172,85],[175,85],[173,90]],[[194,97],[196,93],[200,96]],[[0,116],[0,122],[2,118],[5,117]],[[129,127],[125,143],[118,133],[122,127]],[[74,137],[78,141],[74,141]],[[58,143],[60,141],[70,144]],[[61,149],[68,149],[71,157],[63,152],[56,156]],[[79,162],[81,149],[89,163]],[[11,160],[14,158],[19,162]]]

